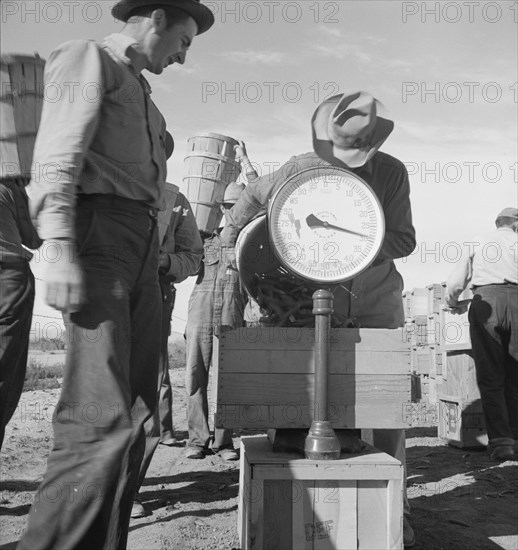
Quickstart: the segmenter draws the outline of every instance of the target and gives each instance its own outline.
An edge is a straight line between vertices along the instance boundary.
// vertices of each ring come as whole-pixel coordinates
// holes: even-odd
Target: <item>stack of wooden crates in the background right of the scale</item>
[[[445,306],[445,293],[446,283],[435,283],[403,294],[417,395],[421,403],[436,407],[436,422],[433,415],[427,418],[437,425],[441,439],[459,447],[485,445],[468,313],[452,313]],[[459,300],[471,296],[466,290]]]

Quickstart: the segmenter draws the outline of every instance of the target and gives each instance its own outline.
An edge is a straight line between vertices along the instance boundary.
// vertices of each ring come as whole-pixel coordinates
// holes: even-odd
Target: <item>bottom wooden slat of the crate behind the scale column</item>
[[[308,428],[312,375],[221,374],[216,423],[225,428]],[[405,427],[410,375],[331,375],[328,420],[335,428]]]

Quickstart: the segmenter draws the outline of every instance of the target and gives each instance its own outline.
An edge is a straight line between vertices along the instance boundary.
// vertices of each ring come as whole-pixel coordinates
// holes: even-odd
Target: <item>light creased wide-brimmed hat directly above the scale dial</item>
[[[367,92],[326,99],[313,114],[313,149],[324,160],[335,157],[347,166],[363,166],[394,129],[377,115],[378,100]]]

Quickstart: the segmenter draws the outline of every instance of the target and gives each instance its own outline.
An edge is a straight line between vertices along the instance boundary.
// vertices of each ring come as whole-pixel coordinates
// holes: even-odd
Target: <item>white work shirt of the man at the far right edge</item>
[[[470,281],[472,287],[518,285],[518,233],[499,227],[464,244],[464,256],[446,283],[448,304],[455,305]]]

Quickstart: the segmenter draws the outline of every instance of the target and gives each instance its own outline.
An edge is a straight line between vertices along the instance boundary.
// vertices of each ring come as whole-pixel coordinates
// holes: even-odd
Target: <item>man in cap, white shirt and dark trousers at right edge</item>
[[[471,284],[469,331],[477,383],[494,460],[517,456],[518,441],[518,209],[504,208],[496,229],[475,237],[446,283],[455,313]]]

